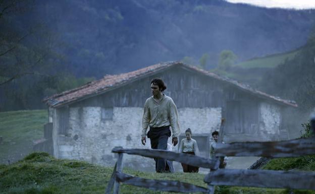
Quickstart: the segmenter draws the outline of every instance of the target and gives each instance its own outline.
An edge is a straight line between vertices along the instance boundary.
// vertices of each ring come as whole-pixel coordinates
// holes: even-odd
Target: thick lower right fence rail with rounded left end
[[[315,190],[315,172],[219,169],[204,177],[212,185]]]

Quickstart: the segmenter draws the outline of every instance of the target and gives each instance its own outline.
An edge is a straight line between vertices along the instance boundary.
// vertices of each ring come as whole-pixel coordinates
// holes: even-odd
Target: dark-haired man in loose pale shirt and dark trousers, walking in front
[[[152,95],[146,99],[144,104],[144,112],[142,117],[142,134],[141,143],[146,143],[146,130],[149,126],[150,130],[147,137],[150,138],[152,149],[167,149],[168,139],[171,136],[170,126],[173,131],[172,143],[176,146],[180,128],[178,124],[177,108],[171,97],[166,96],[162,92],[166,86],[161,79],[153,79],[151,81]],[[154,159],[156,172],[166,172],[167,163],[163,158]]]

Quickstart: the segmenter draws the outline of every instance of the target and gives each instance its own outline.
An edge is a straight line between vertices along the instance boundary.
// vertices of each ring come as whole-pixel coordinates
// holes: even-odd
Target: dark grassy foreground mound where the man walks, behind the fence
[[[75,160],[58,160],[46,153],[33,153],[17,163],[0,165],[0,193],[103,193],[112,171],[111,167],[101,167]],[[203,182],[204,175],[198,173],[144,173],[130,169],[124,169],[124,173],[151,179],[180,180],[206,186]],[[121,193],[166,194],[168,192],[122,184]],[[286,189],[221,186],[217,187],[216,193],[285,194],[289,191]]]

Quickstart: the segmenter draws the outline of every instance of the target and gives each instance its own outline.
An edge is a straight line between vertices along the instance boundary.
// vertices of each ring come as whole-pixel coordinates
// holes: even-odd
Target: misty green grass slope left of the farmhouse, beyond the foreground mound
[[[33,150],[33,141],[43,137],[47,110],[0,112],[0,163],[17,161]]]

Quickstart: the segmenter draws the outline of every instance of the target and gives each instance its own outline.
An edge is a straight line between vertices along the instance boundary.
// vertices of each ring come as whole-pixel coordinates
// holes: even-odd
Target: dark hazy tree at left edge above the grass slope
[[[34,6],[0,0],[0,111],[43,108],[45,89],[64,69],[59,38],[32,17]]]

